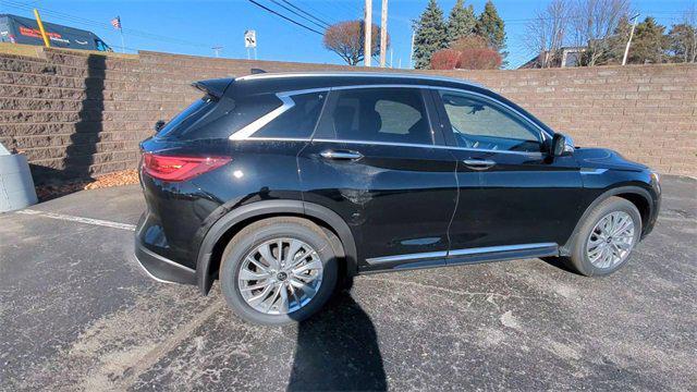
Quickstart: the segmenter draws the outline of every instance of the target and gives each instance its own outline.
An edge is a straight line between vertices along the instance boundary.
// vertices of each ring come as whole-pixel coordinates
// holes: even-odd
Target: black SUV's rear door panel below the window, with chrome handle
[[[360,154],[328,159],[322,152]],[[339,213],[365,259],[448,250],[455,207],[452,156],[443,149],[313,142],[299,157],[304,199]],[[406,260],[405,260],[406,261]]]

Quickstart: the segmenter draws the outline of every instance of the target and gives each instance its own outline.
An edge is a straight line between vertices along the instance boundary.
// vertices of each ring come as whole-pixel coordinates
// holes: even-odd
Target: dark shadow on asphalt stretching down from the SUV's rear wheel
[[[298,324],[288,391],[384,391],[375,326],[348,290]]]

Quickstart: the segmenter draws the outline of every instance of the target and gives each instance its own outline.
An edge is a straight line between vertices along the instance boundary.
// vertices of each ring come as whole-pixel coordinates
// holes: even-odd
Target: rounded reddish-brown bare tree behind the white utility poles
[[[339,54],[348,65],[358,64],[364,57],[364,24],[363,21],[346,21],[329,26],[322,40],[325,48]],[[378,45],[380,27],[376,24],[372,25],[371,37],[370,52],[375,57],[380,53],[380,45]],[[388,36],[389,45],[390,37]]]

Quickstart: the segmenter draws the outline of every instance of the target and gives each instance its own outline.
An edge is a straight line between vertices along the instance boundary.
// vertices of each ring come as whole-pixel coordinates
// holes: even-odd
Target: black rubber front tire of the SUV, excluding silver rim
[[[607,198],[598,206],[594,207],[594,209],[584,219],[578,233],[571,245],[571,256],[567,259],[568,265],[578,273],[586,277],[607,275],[622,268],[627,264],[629,258],[632,258],[632,253],[629,253],[629,255],[620,264],[608,268],[598,268],[594,266],[588,258],[587,244],[591,231],[603,217],[613,211],[623,211],[629,215],[634,221],[633,246],[636,246],[639,242],[639,237],[641,236],[641,215],[639,213],[639,210],[627,199],[616,196]],[[632,249],[632,252],[634,252],[634,249]]]

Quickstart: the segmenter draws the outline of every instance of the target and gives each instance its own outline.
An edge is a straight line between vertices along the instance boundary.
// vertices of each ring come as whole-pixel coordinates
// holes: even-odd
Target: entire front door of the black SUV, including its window
[[[564,244],[580,208],[583,185],[573,157],[548,157],[549,136],[494,98],[450,90],[433,96],[458,162],[458,182],[469,186],[460,187],[451,250]]]

